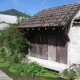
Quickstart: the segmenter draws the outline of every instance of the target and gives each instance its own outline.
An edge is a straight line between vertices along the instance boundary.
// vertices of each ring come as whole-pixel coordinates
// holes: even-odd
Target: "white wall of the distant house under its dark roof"
[[[0,22],[16,23],[16,20],[16,16],[0,14]]]

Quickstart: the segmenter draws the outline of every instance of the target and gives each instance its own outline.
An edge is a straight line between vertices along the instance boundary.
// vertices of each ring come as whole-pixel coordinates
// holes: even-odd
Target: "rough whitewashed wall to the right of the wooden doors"
[[[73,20],[78,16],[80,16],[80,11]],[[68,43],[68,65],[73,63],[80,64],[80,25],[72,26],[73,20],[68,34],[70,38],[70,42]]]

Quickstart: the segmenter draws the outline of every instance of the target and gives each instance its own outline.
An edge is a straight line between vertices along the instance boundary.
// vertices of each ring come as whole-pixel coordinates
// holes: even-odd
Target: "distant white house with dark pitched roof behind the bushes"
[[[17,23],[17,15],[22,17],[26,14],[17,11],[15,9],[10,9],[10,10],[0,12],[0,30],[2,29],[2,27],[7,27],[8,25],[6,24]]]

